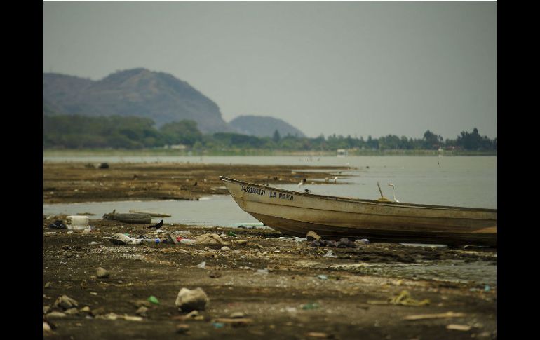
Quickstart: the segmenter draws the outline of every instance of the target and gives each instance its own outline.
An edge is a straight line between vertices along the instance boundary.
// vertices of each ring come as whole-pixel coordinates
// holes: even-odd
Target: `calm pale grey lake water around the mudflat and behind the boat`
[[[86,163],[219,163],[250,165],[328,165],[348,166],[351,170],[339,170],[337,182],[346,185],[313,185],[309,178],[306,185],[278,185],[283,189],[304,191],[332,196],[366,199],[380,197],[377,182],[384,196],[401,202],[435,205],[453,205],[475,208],[497,208],[497,156],[91,156],[91,157],[43,157],[43,162]],[[271,175],[271,174],[269,174]],[[352,177],[343,177],[352,175]],[[341,176],[341,177],[340,177]],[[316,177],[316,175],[313,175]],[[44,215],[81,212],[96,214],[100,218],[106,212],[128,212],[130,209],[167,212],[172,217],[163,218],[166,223],[234,226],[257,224],[236,205],[231,196],[208,196],[198,201],[124,201],[102,203],[44,204]],[[91,217],[90,217],[91,218]],[[161,219],[161,218],[160,218]],[[159,220],[159,219],[156,219]]]

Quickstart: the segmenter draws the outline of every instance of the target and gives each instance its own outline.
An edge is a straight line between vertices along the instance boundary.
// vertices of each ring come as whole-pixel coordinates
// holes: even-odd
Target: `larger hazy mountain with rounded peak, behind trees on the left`
[[[128,69],[99,81],[43,73],[43,115],[139,116],[165,123],[191,119],[201,132],[233,132],[215,102],[163,72]]]

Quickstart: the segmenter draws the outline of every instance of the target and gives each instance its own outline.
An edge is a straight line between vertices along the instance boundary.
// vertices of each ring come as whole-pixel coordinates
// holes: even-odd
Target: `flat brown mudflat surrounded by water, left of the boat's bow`
[[[345,184],[349,168],[322,166],[222,165],[189,163],[43,163],[43,203],[112,200],[197,200],[228,194],[220,176],[264,184]],[[316,170],[316,174],[312,171]],[[325,182],[328,178],[328,182]]]

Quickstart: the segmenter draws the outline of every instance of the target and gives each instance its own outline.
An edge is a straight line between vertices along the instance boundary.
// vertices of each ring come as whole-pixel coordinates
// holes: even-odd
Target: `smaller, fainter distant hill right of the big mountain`
[[[302,131],[278,118],[268,116],[238,116],[229,122],[238,133],[257,137],[272,137],[278,130],[281,137],[292,135],[306,137]]]

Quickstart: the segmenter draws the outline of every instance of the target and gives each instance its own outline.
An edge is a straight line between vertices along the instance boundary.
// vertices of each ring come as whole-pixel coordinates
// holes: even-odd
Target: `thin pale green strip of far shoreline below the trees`
[[[497,150],[351,150],[347,156],[497,156]],[[67,156],[337,156],[336,151],[230,149],[185,151],[175,149],[44,149],[43,157]]]

